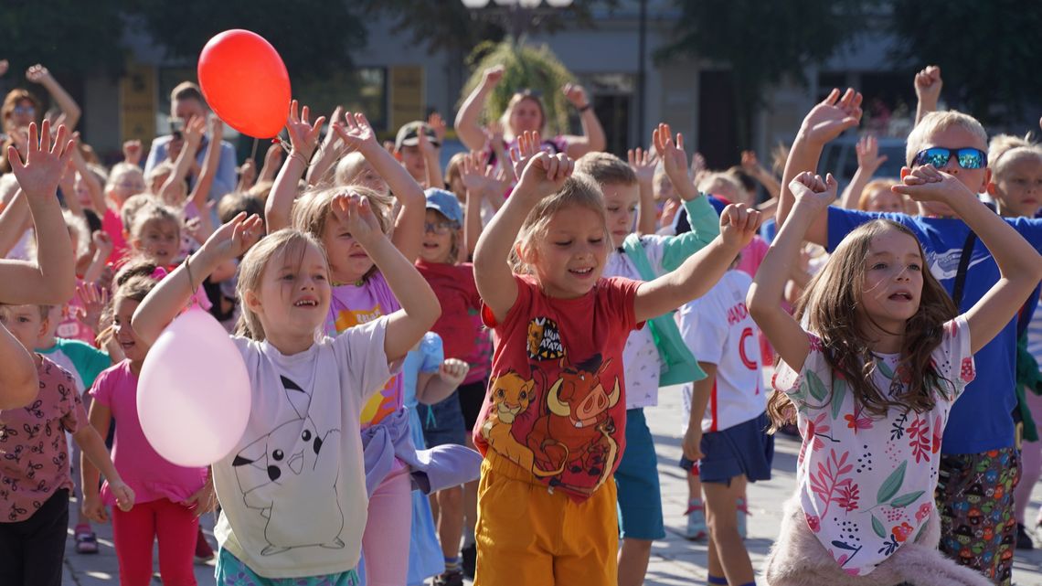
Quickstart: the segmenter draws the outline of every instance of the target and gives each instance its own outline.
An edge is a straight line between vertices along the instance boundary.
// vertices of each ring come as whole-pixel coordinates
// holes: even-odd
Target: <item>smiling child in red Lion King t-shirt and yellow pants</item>
[[[474,262],[481,316],[500,340],[473,432],[486,458],[474,583],[617,586],[626,339],[709,290],[760,215],[727,207],[720,236],[654,280],[602,278],[611,231],[597,184],[540,151],[535,133],[520,147],[521,180]]]

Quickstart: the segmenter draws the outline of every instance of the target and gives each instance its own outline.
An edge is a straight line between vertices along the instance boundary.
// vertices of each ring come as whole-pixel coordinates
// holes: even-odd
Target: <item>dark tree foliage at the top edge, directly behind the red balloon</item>
[[[365,46],[366,27],[350,2],[323,0],[133,0],[128,13],[166,47],[168,55],[195,60],[212,36],[245,28],[264,36],[282,56],[291,78],[315,78],[351,67]]]

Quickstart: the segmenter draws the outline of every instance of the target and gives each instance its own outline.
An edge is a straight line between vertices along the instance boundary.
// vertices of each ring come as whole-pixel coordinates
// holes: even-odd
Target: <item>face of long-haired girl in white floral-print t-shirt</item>
[[[917,311],[922,295],[923,260],[919,244],[911,236],[890,228],[872,238],[865,259],[859,313],[864,332],[874,322],[890,333],[903,333]]]

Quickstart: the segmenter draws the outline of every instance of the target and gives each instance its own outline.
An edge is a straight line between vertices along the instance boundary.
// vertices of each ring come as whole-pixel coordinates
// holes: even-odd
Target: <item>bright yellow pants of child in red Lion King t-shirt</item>
[[[474,586],[618,585],[615,480],[584,503],[490,449],[477,488]]]

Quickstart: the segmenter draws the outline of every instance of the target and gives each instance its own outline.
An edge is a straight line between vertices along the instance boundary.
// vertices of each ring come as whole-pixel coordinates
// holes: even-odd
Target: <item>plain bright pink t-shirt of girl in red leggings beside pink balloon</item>
[[[113,464],[123,477],[123,482],[134,492],[134,502],[149,503],[169,498],[184,500],[202,488],[206,468],[187,468],[171,464],[159,456],[145,438],[138,417],[138,375],[130,370],[130,361],[124,360],[105,369],[94,381],[91,395],[113,412],[116,419],[116,439],[113,442]],[[192,422],[184,421],[184,433],[192,433]],[[106,505],[116,499],[108,491],[108,483],[101,486],[101,497]]]

